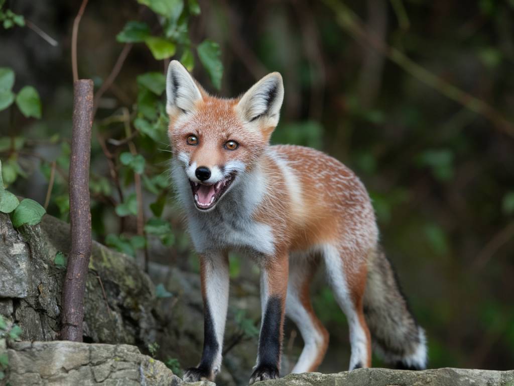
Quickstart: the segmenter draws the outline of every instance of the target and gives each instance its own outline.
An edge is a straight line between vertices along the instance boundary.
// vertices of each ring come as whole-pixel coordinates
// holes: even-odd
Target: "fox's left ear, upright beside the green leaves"
[[[201,92],[193,77],[180,62],[173,60],[168,66],[166,79],[166,112],[169,115],[178,112],[191,112],[195,103],[201,100]]]

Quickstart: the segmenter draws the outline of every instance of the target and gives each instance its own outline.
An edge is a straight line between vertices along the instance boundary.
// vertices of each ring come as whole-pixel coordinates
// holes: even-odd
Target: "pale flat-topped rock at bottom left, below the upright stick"
[[[67,341],[16,342],[8,349],[6,382],[13,385],[181,386],[164,363],[137,347]],[[196,386],[214,386],[197,382]]]

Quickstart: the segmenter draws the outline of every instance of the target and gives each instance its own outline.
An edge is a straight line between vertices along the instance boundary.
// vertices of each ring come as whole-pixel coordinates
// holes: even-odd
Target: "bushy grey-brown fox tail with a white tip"
[[[370,256],[364,293],[364,317],[376,354],[397,369],[427,366],[425,331],[414,319],[396,274],[380,250]]]

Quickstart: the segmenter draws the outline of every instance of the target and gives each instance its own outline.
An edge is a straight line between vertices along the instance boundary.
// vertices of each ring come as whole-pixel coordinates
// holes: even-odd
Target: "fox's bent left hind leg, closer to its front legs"
[[[316,317],[310,302],[309,286],[319,265],[319,256],[289,259],[286,315],[302,335],[304,347],[292,373],[316,371],[328,347],[328,331]]]

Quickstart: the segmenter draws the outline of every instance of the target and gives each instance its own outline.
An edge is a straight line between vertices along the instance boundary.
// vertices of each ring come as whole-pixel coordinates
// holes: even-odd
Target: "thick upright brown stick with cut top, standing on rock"
[[[71,250],[62,295],[61,339],[82,342],[84,292],[91,254],[89,158],[93,126],[93,80],[76,80],[73,88],[73,128],[69,166]]]

